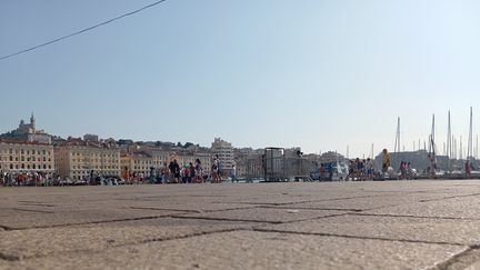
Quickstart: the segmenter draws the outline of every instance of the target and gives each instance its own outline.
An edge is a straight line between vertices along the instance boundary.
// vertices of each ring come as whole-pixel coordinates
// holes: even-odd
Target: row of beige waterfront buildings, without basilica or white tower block
[[[118,146],[80,139],[56,147],[38,142],[0,141],[0,171],[4,173],[34,171],[56,173],[61,178],[84,179],[94,171],[102,176],[123,177],[128,172],[147,177],[152,169],[168,167],[170,161],[177,160],[180,167],[187,167],[190,162],[194,164],[197,159],[203,170],[210,170],[210,152],[141,148],[123,151]]]

